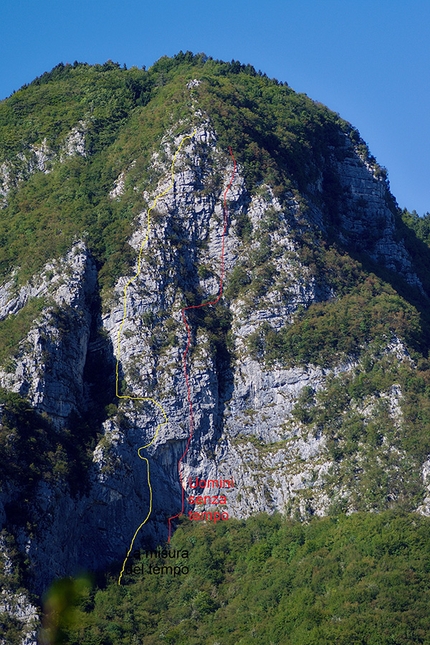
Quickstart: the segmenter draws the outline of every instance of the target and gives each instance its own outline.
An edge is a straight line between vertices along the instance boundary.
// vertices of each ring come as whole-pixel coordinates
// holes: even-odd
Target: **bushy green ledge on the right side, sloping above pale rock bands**
[[[416,309],[375,276],[341,298],[314,303],[296,320],[276,331],[269,324],[248,341],[254,358],[287,366],[331,366],[357,355],[371,341],[387,343],[393,335],[419,349],[423,334]]]

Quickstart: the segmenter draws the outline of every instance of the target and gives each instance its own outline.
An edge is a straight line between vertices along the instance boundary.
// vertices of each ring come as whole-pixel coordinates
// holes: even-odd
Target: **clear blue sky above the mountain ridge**
[[[430,211],[430,0],[1,0],[0,98],[59,62],[251,63],[361,132],[401,207]]]

